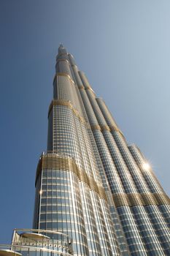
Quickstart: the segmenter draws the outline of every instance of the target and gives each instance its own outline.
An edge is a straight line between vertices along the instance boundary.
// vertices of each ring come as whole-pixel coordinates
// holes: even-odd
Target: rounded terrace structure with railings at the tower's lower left
[[[0,256],[71,256],[72,240],[52,230],[15,229],[12,244],[0,244]]]

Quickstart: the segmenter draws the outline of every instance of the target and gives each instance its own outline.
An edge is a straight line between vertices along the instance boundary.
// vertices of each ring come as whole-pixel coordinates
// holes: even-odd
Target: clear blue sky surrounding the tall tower
[[[170,195],[169,25],[169,0],[0,1],[1,244],[32,227],[60,42]]]

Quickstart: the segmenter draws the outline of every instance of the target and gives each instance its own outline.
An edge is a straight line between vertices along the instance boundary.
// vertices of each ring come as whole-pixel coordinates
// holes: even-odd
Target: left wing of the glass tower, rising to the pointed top
[[[34,228],[68,235],[74,255],[121,255],[96,162],[99,154],[77,83],[81,79],[62,45],[55,71],[47,152],[36,172]],[[126,251],[121,227],[120,233]]]

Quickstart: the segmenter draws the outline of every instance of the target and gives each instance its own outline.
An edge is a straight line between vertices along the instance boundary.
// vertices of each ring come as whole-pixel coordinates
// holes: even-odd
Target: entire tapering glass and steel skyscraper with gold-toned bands
[[[34,227],[0,256],[170,255],[170,200],[152,168],[63,45],[55,70]]]

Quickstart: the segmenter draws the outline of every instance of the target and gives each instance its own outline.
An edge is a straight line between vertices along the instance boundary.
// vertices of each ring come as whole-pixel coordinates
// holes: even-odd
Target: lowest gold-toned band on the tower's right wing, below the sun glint
[[[116,207],[170,205],[169,197],[159,193],[113,194],[112,197]]]

